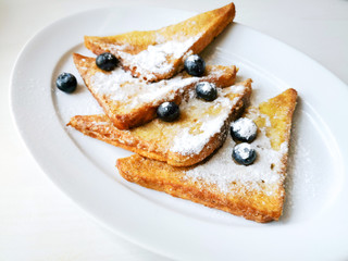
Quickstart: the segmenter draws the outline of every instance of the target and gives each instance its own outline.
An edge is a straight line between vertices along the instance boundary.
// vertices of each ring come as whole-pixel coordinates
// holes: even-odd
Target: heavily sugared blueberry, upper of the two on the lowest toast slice
[[[258,126],[247,117],[239,117],[231,123],[231,135],[234,139],[251,142],[258,134]]]

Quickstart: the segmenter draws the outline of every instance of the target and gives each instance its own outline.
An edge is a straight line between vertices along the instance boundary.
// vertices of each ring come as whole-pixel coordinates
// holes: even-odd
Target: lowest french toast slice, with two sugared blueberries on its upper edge
[[[288,146],[297,92],[283,94],[246,111],[258,125],[252,142],[258,157],[253,164],[238,165],[232,159],[235,141],[207,162],[190,167],[171,166],[138,154],[119,159],[116,166],[127,181],[167,192],[210,208],[257,222],[277,221],[285,197]]]

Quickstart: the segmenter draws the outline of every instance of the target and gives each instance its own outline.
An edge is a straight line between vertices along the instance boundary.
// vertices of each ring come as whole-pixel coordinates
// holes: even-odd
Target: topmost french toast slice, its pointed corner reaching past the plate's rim
[[[229,3],[158,30],[85,36],[85,46],[95,54],[113,53],[135,77],[158,82],[179,72],[185,59],[201,52],[234,16],[235,5]]]

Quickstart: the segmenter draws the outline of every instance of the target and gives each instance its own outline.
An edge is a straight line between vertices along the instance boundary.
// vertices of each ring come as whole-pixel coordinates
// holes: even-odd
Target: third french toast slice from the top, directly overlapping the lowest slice
[[[248,104],[251,79],[217,91],[217,98],[208,102],[196,98],[191,90],[179,107],[179,119],[172,123],[156,119],[146,125],[121,130],[105,115],[77,115],[67,125],[144,157],[188,166],[221,147],[228,133],[229,120]]]

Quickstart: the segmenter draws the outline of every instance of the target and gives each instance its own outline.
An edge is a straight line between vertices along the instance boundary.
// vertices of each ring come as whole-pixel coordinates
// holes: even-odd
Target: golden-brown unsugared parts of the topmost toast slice
[[[149,46],[163,44],[163,40],[164,42],[170,40],[184,41],[198,37],[186,53],[199,53],[232,23],[234,17],[235,5],[234,3],[229,3],[223,8],[198,14],[184,22],[158,30],[136,30],[107,37],[85,36],[85,46],[96,54],[112,52],[122,61],[120,50],[114,49],[113,46],[122,46],[122,52],[137,54],[146,50]],[[158,42],[159,38],[161,42]],[[158,82],[160,79],[171,78],[183,69],[184,59],[185,55],[181,58],[169,58],[169,63],[173,65],[172,69],[165,73],[153,73],[156,77],[150,80]],[[132,61],[127,62],[132,64]],[[129,70],[135,77],[147,77],[146,74],[141,75],[141,73],[134,70],[134,67],[128,66],[127,63],[123,63],[123,66],[125,70]]]

